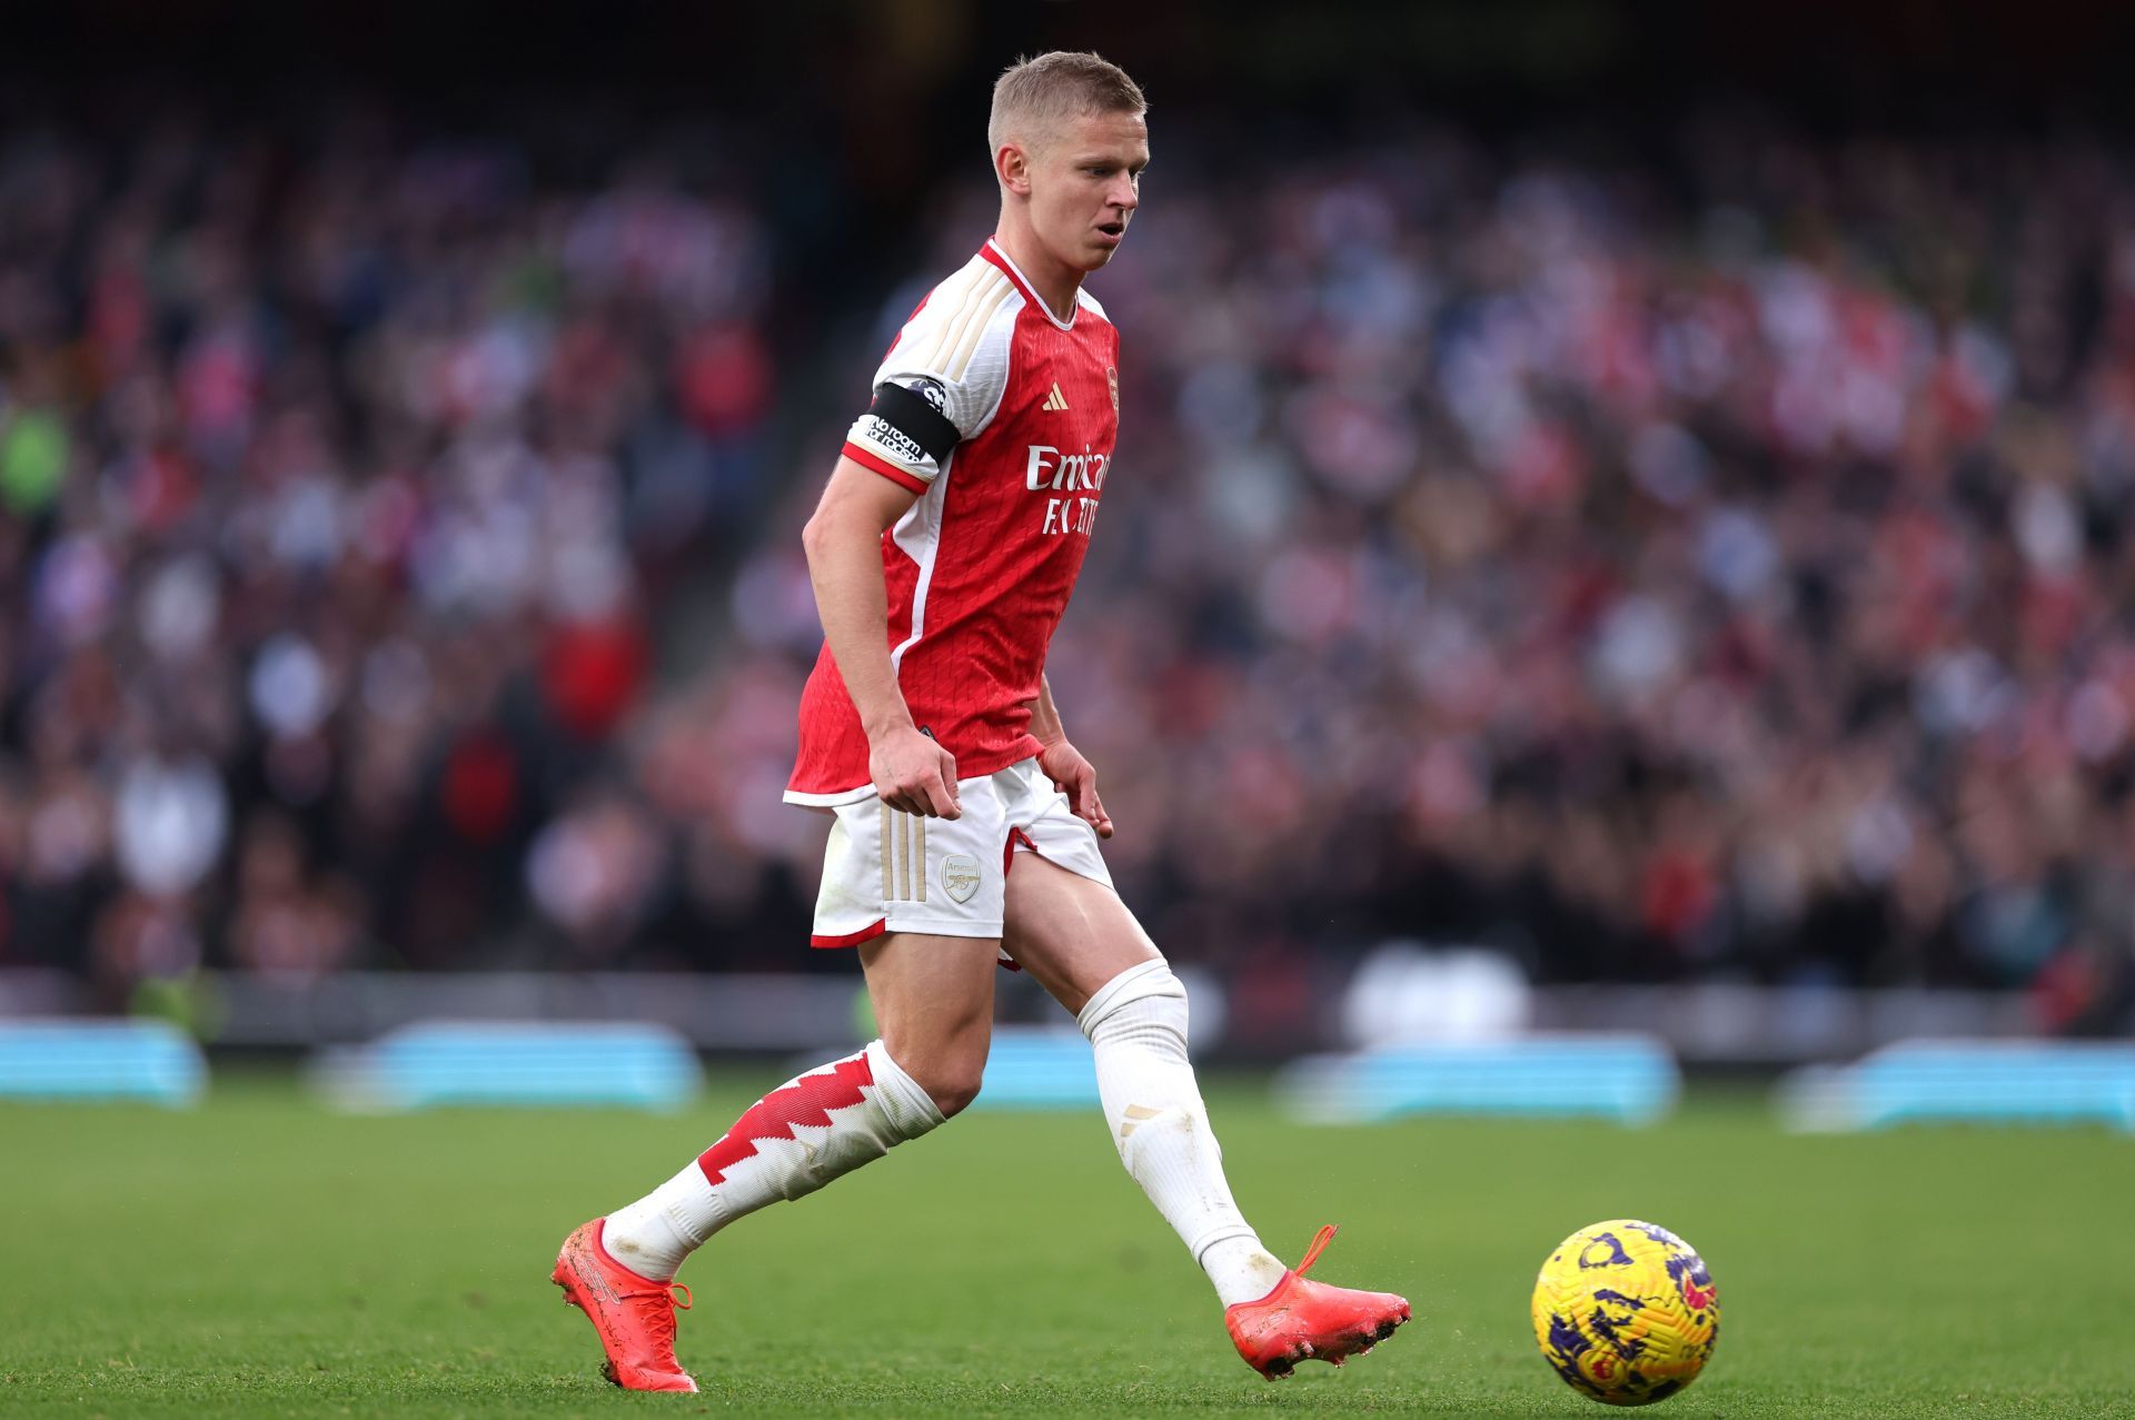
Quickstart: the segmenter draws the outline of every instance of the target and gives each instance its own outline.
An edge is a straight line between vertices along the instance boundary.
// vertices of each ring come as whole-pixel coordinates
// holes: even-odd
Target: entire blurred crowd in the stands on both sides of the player
[[[1161,115],[1091,282],[1119,472],[1050,677],[1240,1027],[1392,935],[2126,1008],[2124,158],[1217,135]],[[0,141],[0,963],[826,965],[796,530],[991,192],[816,350],[771,205]]]

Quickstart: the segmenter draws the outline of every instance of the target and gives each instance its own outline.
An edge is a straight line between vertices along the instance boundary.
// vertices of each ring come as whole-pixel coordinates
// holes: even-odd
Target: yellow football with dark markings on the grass
[[[1697,1249],[1627,1217],[1580,1228],[1535,1279],[1535,1341],[1550,1369],[1606,1405],[1650,1405],[1706,1369],[1721,1298]]]

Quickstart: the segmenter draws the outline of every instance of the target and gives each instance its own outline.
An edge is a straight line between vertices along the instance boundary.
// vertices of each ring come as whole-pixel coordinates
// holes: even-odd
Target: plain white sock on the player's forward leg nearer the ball
[[[1097,1057],[1097,1095],[1119,1162],[1208,1273],[1223,1305],[1258,1303],[1283,1279],[1223,1179],[1187,1063],[1187,989],[1170,965],[1127,967],[1076,1016]]]

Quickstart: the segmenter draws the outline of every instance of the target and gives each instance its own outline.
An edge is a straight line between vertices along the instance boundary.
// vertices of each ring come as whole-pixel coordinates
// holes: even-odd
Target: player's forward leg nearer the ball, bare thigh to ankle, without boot
[[[1008,873],[1008,954],[1076,1014],[1121,1164],[1208,1273],[1223,1305],[1281,1283],[1223,1177],[1187,1061],[1187,993],[1110,886],[1018,852]]]

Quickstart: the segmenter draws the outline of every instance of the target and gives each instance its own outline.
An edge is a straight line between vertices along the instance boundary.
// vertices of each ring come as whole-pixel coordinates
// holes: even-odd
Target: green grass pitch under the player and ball
[[[1211,1085],[1240,1202],[1416,1322],[1270,1386],[1095,1115],[969,1115],[683,1271],[702,1394],[623,1394],[547,1273],[777,1068],[681,1117],[348,1119],[288,1080],[194,1113],[0,1106],[0,1416],[1599,1416],[1535,1354],[1544,1253],[1603,1217],[1691,1238],[1721,1345],[1672,1420],[2135,1416],[2135,1138],[1789,1138],[1749,1095],[1655,1130],[1292,1127]]]

